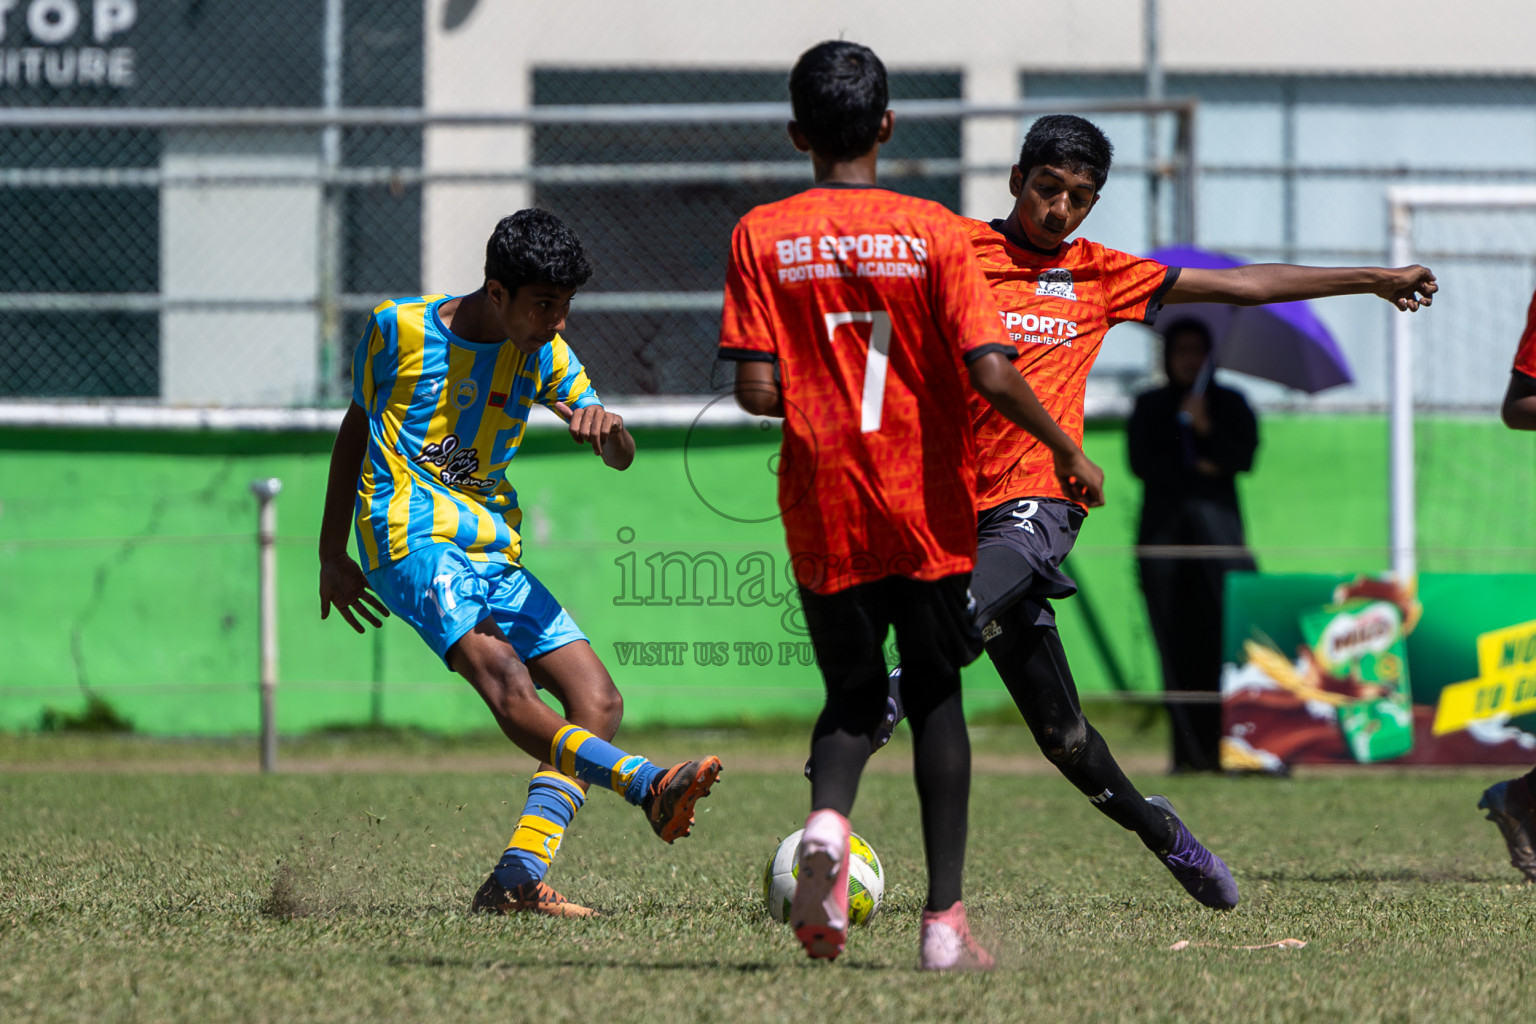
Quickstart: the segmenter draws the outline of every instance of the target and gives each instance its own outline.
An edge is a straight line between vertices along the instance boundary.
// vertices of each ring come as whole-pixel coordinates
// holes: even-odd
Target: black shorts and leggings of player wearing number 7
[[[937,582],[886,577],[839,594],[802,590],[805,620],[826,683],[811,734],[811,809],[848,817],[889,692],[883,643],[895,626],[902,703],[912,726],[912,768],[928,854],[928,909],[960,900],[971,801],[971,738],[960,668],[977,654],[966,616],[968,576]]]

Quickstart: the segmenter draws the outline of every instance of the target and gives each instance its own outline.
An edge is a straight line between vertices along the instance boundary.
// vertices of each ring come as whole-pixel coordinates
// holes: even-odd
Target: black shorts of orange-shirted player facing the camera
[[[1061,571],[1061,559],[1077,543],[1084,516],[1060,497],[1003,502],[977,516],[971,597],[983,634],[989,622],[1017,603],[1025,603],[1031,625],[1055,625],[1051,599],[1077,593],[1077,583]]]

